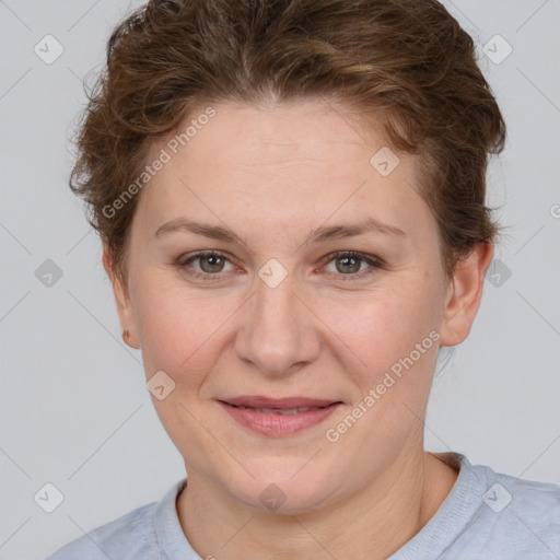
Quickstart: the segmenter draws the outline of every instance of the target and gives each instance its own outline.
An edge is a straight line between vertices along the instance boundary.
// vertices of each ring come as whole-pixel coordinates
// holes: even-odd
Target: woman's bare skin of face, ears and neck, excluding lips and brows
[[[315,100],[213,106],[217,115],[141,191],[127,279],[104,248],[128,343],[141,348],[148,380],[163,370],[175,383],[152,400],[188,472],[180,525],[202,558],[386,558],[455,483],[457,472],[423,450],[423,418],[439,345],[468,335],[492,246],[475,247],[448,279],[436,222],[419,195],[418,156],[398,154],[382,176],[370,159],[386,142],[355,112]],[[228,226],[245,243],[182,230],[154,235],[179,217]],[[316,228],[368,217],[404,234],[304,243]],[[176,265],[203,249],[225,254],[222,268],[205,258]],[[342,250],[384,264],[325,258]],[[288,272],[276,288],[258,276],[271,258]],[[339,441],[327,441],[326,430],[432,330],[439,343]],[[319,425],[271,438],[217,404],[240,395],[343,405]],[[277,511],[259,500],[270,483],[285,495]]]

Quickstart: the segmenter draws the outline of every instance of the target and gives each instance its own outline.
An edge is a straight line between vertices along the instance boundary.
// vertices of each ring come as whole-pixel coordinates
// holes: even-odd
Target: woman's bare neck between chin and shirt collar
[[[202,558],[382,560],[435,514],[457,472],[422,450],[368,488],[318,511],[291,515],[255,510],[224,495],[196,470],[177,500],[182,528]]]

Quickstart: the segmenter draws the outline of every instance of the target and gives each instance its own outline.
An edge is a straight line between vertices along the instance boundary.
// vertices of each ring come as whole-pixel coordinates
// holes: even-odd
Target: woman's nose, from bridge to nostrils
[[[275,288],[257,279],[240,316],[237,355],[265,375],[290,375],[318,355],[318,319],[296,292],[290,275]]]

